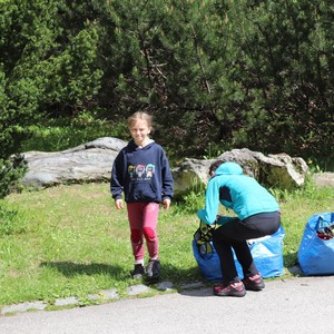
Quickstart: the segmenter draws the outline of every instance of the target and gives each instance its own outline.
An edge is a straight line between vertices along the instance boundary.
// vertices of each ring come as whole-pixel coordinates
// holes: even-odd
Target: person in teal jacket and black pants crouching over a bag
[[[243,174],[235,163],[215,161],[209,167],[210,179],[205,195],[205,208],[198,217],[208,225],[216,222],[219,204],[233,209],[236,217],[218,220],[213,242],[219,256],[223,283],[214,287],[217,296],[243,297],[246,289],[265,287],[254,263],[247,240],[273,235],[281,226],[276,199],[254,178]],[[244,278],[238,277],[233,249],[242,265]]]

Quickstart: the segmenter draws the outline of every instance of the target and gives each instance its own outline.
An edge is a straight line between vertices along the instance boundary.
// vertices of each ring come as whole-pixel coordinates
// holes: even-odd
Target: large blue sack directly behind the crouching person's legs
[[[269,278],[269,277],[277,277],[283,275],[284,236],[285,236],[285,230],[281,226],[278,230],[272,236],[248,242],[252,256],[262,277]],[[191,244],[193,253],[198,264],[199,271],[204,275],[204,277],[212,282],[220,282],[223,275],[220,271],[219,257],[212,242],[210,245],[213,252],[207,254],[202,254],[199,252],[198,245],[196,244],[196,240],[194,239]],[[235,259],[238,276],[239,278],[243,278],[244,277],[243,269],[235,254],[234,254],[234,259]]]

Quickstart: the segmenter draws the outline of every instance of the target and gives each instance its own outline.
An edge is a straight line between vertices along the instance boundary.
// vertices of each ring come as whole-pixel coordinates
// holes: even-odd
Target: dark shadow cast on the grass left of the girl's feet
[[[104,263],[81,264],[69,261],[65,262],[42,262],[41,267],[56,268],[59,273],[67,277],[77,275],[110,275],[118,279],[125,279],[126,273],[122,267],[116,265],[107,265]]]

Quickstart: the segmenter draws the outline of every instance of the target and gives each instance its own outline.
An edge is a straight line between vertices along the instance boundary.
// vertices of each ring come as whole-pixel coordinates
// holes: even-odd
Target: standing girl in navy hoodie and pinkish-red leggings
[[[160,276],[158,257],[157,220],[159,204],[166,209],[170,206],[174,181],[165,151],[149,138],[153,130],[151,116],[135,112],[128,118],[128,128],[132,139],[120,150],[111,170],[110,190],[117,209],[124,208],[122,193],[127,204],[130,226],[130,239],[135,267],[134,278],[146,273],[151,281]],[[144,243],[149,255],[145,269]]]

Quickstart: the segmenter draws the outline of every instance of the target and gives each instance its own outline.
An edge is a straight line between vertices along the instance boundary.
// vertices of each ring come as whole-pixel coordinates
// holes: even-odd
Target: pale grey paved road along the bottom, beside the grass
[[[266,282],[243,298],[210,288],[0,317],[1,334],[334,333],[334,276]]]

